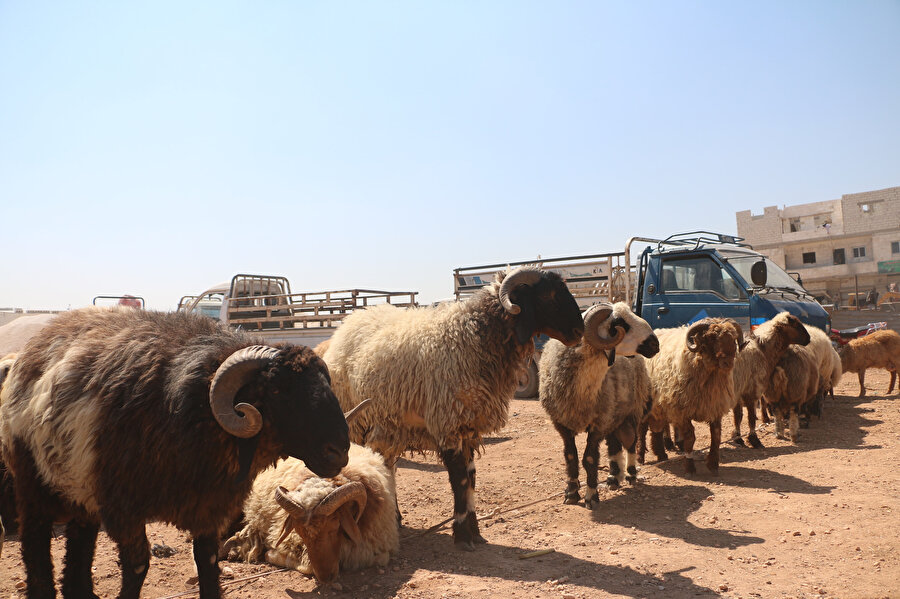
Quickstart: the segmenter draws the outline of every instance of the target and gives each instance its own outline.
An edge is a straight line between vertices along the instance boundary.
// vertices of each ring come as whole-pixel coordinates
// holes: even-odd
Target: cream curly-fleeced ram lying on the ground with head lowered
[[[367,447],[350,446],[350,461],[333,478],[293,458],[264,470],[244,503],[244,526],[220,555],[315,574],[384,566],[400,546],[394,475]]]

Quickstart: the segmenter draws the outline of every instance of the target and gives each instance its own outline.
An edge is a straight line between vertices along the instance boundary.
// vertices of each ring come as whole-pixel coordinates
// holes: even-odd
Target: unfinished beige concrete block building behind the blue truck
[[[857,292],[900,287],[900,187],[839,200],[738,212],[737,232],[814,295],[850,304]]]

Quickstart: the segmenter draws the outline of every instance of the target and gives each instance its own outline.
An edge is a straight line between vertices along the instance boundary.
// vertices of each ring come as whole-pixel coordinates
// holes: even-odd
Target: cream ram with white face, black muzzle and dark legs
[[[649,396],[633,390],[636,370],[633,360],[621,356],[641,354],[650,357],[659,351],[659,341],[650,325],[636,316],[626,304],[597,304],[584,314],[584,341],[566,347],[559,341],[548,341],[540,363],[541,405],[563,438],[568,482],[565,502],[578,503],[578,449],[575,435],[587,431],[584,470],[587,492],[584,505],[592,509],[597,500],[597,468],[600,441],[607,438],[609,477],[607,484],[621,484],[626,469],[630,478],[637,475],[634,442],[637,422]],[[610,368],[610,363],[615,365]],[[643,370],[641,365],[640,370]],[[608,371],[608,372],[607,372]],[[607,380],[615,373],[615,380]],[[644,372],[646,379],[646,372]],[[649,381],[648,381],[649,383]],[[631,463],[626,463],[622,446],[627,448]]]

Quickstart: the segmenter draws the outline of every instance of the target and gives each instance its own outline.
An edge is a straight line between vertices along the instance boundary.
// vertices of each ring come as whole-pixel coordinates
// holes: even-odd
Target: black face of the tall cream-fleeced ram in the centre
[[[530,285],[519,285],[510,292],[510,300],[521,308],[516,316],[516,336],[527,343],[543,333],[571,347],[581,341],[584,321],[578,303],[558,274],[541,272]]]

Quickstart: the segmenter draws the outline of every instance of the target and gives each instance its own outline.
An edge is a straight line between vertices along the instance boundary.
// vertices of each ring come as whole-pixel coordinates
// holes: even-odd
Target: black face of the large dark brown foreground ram
[[[307,347],[291,347],[262,379],[261,411],[268,411],[284,455],[303,460],[319,476],[337,475],[347,465],[350,433],[325,362]]]

